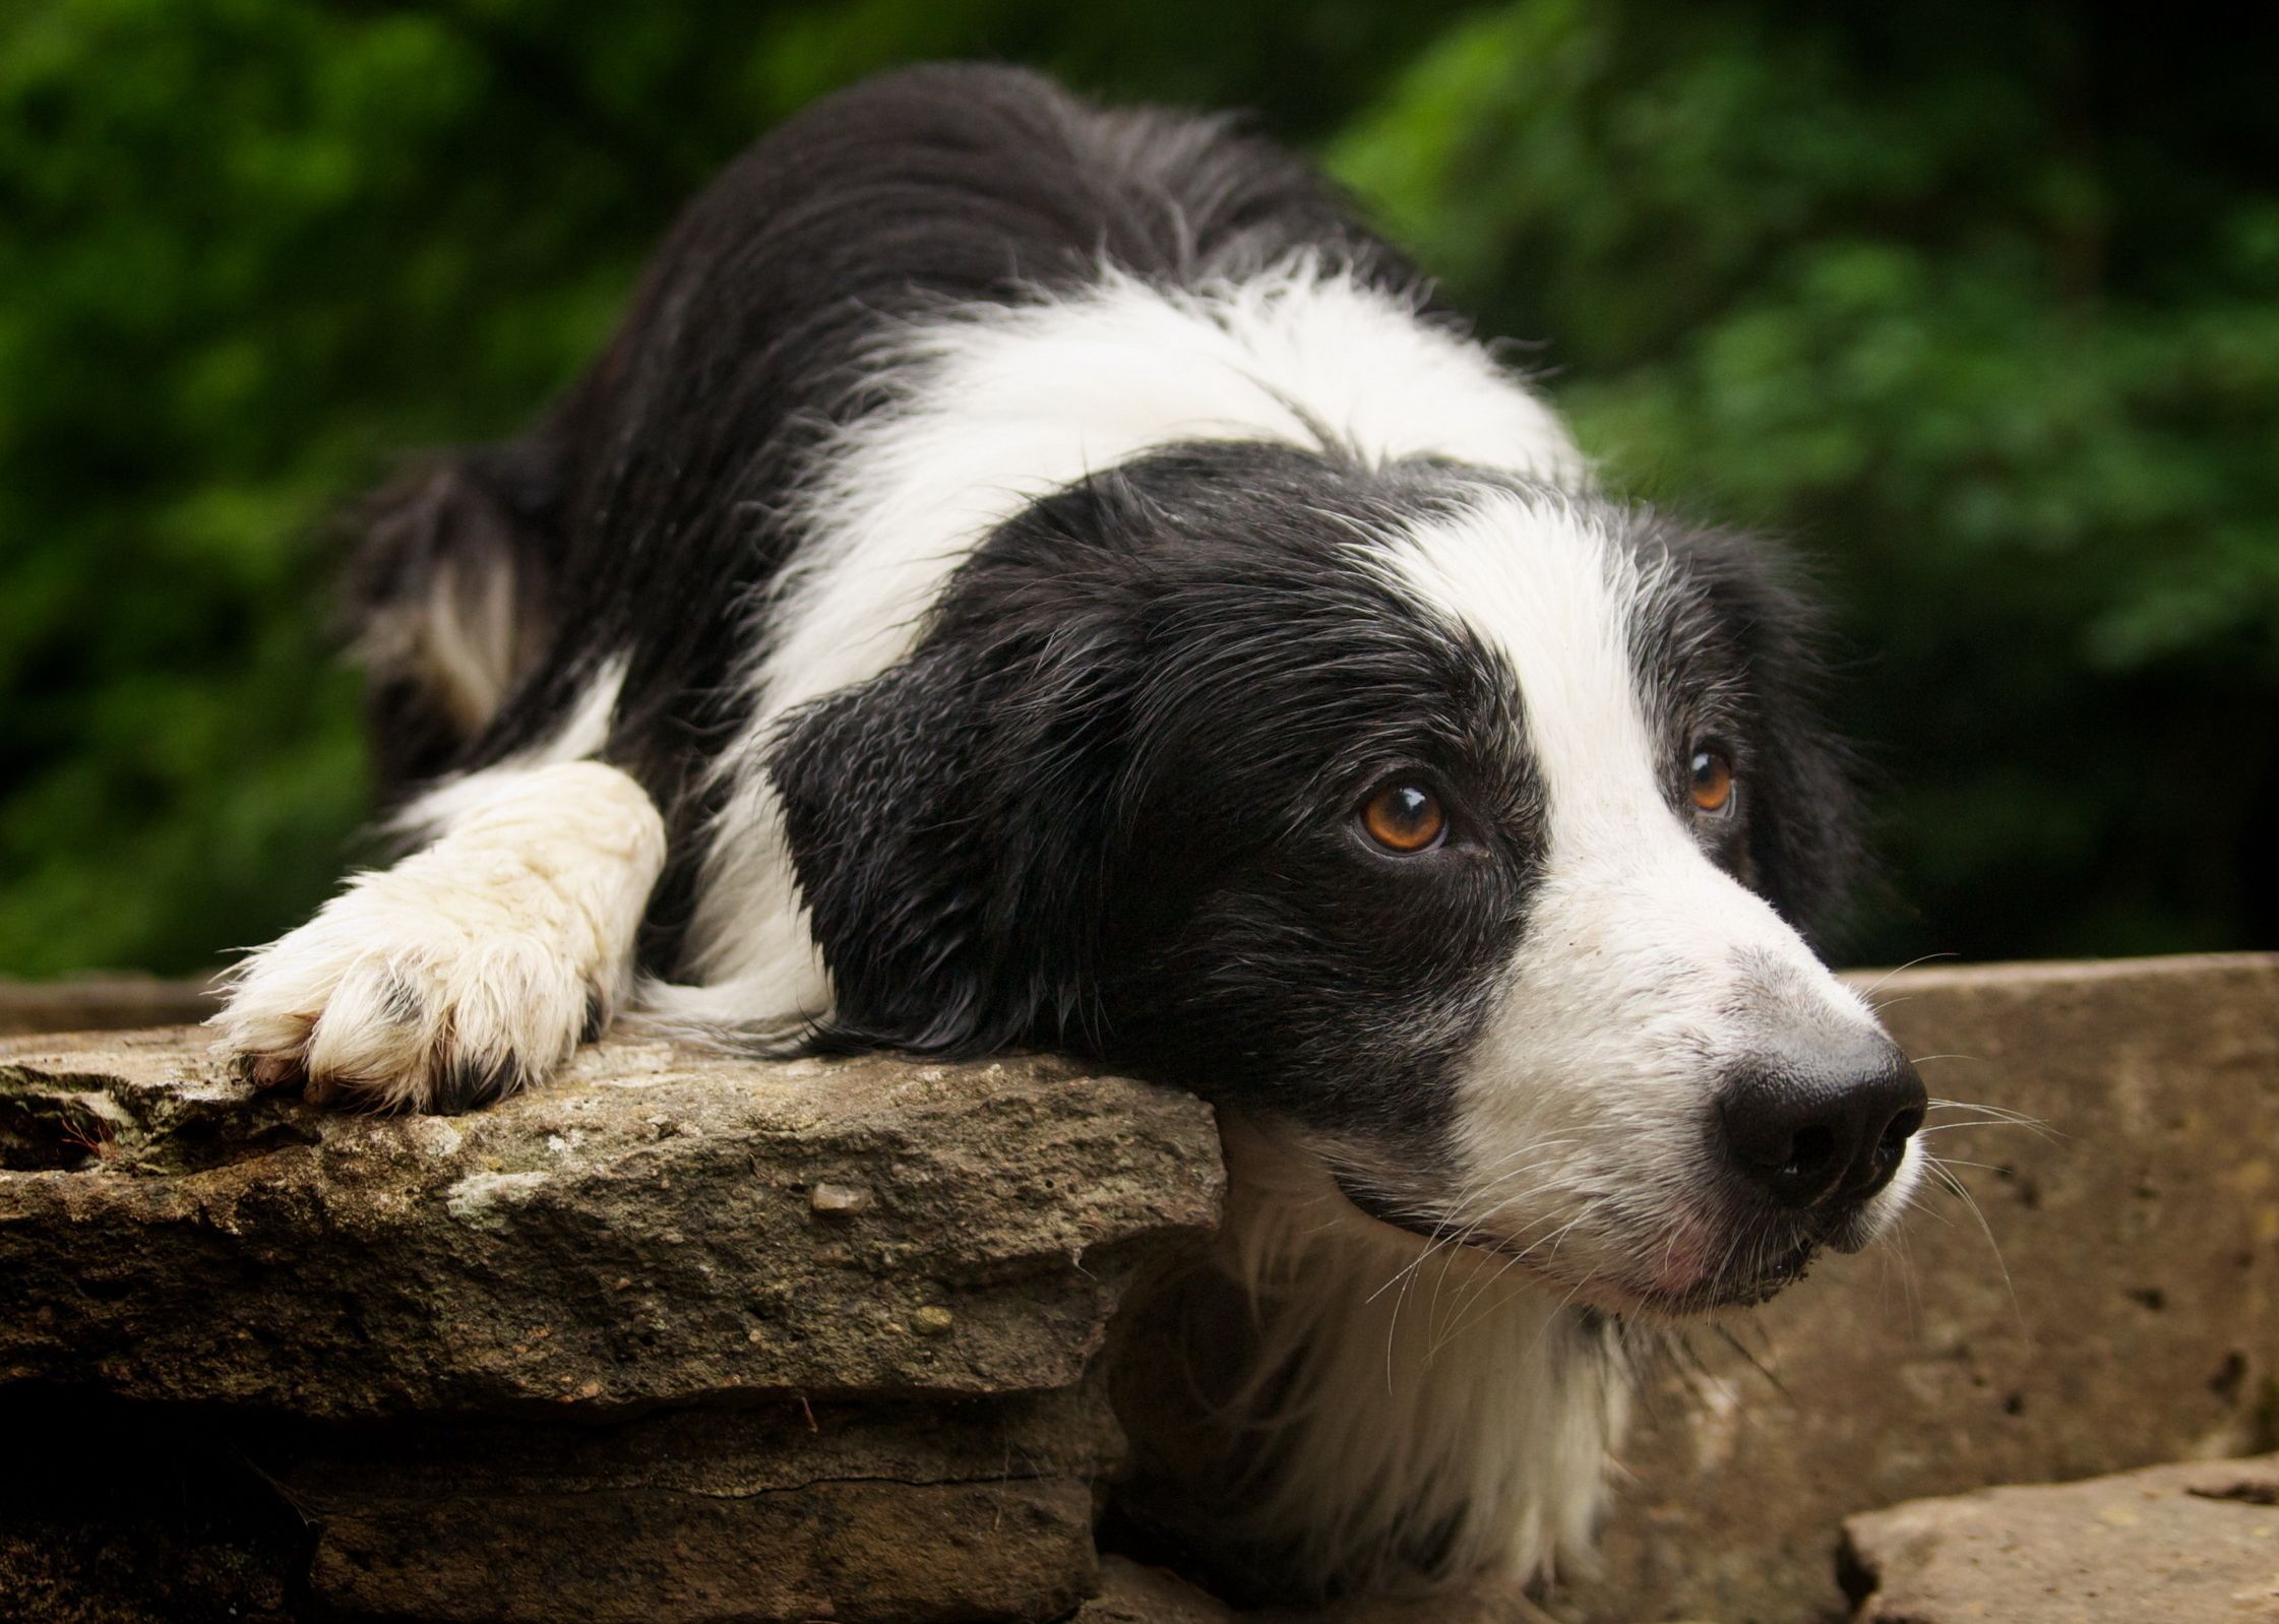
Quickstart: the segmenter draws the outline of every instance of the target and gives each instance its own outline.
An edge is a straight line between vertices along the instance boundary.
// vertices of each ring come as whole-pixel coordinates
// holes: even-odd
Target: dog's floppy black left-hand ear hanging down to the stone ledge
[[[1085,1048],[1124,667],[1073,620],[934,635],[793,713],[770,779],[830,966],[818,1048]]]

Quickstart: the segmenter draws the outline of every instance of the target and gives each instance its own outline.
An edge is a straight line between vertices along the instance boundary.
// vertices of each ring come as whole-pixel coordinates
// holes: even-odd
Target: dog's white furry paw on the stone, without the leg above
[[[542,877],[499,859],[447,884],[417,863],[365,875],[237,968],[212,1025],[258,1089],[465,1112],[599,1034],[615,977],[565,945],[563,902]]]

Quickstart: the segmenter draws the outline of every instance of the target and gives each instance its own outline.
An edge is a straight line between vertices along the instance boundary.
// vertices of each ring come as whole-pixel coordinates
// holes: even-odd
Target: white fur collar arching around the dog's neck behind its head
[[[818,453],[804,544],[757,608],[766,654],[718,763],[732,795],[691,929],[706,986],[659,991],[672,1014],[827,1009],[759,763],[791,708],[900,661],[950,572],[1037,497],[1151,446],[1324,433],[1372,462],[1582,476],[1559,419],[1481,344],[1310,257],[1203,289],[1103,271],[1078,294],[914,323],[882,371],[896,399]]]

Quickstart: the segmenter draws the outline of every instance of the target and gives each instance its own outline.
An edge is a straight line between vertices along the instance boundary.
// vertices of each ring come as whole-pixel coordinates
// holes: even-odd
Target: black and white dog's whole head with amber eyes
[[[1614,1310],[1871,1239],[1923,1089],[1798,932],[1848,866],[1759,549],[1256,444],[1060,492],[773,779],[825,1041],[1073,1048]]]

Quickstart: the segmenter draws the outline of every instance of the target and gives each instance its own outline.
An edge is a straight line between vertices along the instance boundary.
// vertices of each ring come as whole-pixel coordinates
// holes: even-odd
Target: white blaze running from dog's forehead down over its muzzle
[[[1876,1020],[1666,799],[1686,743],[1645,715],[1629,633],[1652,581],[1629,549],[1557,497],[1495,494],[1418,528],[1392,567],[1518,674],[1550,813],[1527,932],[1461,1077],[1465,1182],[1433,1205],[1593,1303],[1707,1285],[1734,1262],[1696,1196],[1714,1080],[1778,1014]],[[1919,1168],[1910,1143],[1869,1232]]]

